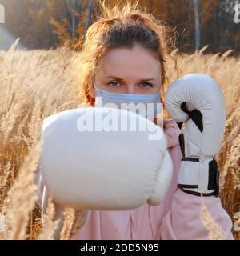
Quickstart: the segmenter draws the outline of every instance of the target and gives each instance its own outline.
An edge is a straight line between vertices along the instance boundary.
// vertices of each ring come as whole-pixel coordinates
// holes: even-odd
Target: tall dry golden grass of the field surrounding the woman
[[[78,107],[78,82],[73,63],[79,53],[58,50],[0,51],[0,238],[53,239],[58,222],[54,221],[51,200],[42,225],[41,208],[35,198],[33,171],[38,165],[39,132],[43,118],[62,110]],[[210,74],[222,88],[226,98],[227,121],[221,150],[217,156],[221,170],[222,205],[238,226],[240,219],[240,60],[224,54],[172,54],[178,60],[179,76],[193,72]],[[170,82],[176,78],[168,62]],[[210,223],[202,208],[202,220]],[[79,222],[74,222],[74,210],[64,212],[61,238],[74,238]],[[237,217],[236,217],[237,216]],[[75,224],[74,224],[75,223]],[[74,226],[73,231],[70,227]],[[214,226],[214,224],[212,224]],[[222,238],[221,232],[210,238]],[[233,230],[234,238],[240,234]]]

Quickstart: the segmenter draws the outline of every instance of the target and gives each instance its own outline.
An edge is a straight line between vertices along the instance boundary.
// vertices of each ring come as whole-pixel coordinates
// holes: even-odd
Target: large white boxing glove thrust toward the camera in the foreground
[[[134,120],[135,131],[129,126]],[[144,124],[149,128],[138,129]],[[159,136],[150,140],[153,130]],[[133,112],[66,110],[44,119],[41,140],[43,179],[63,206],[130,210],[145,202],[159,204],[170,186],[173,166],[162,128]]]

